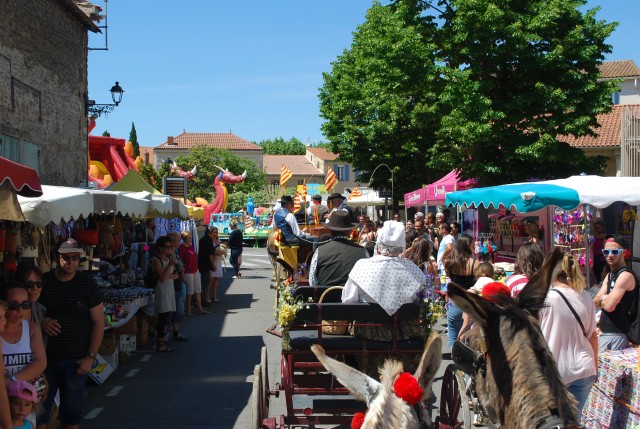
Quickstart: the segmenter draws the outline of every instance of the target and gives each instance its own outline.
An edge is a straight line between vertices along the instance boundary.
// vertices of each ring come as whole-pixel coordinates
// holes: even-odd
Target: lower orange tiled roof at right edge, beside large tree
[[[620,147],[622,112],[626,108],[633,109],[636,116],[640,116],[640,104],[617,104],[611,112],[596,117],[600,125],[593,129],[596,136],[558,136],[558,140],[577,148]]]

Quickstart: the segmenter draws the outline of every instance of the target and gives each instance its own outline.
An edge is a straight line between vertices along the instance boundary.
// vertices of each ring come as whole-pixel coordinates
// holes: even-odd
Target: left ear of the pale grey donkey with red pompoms
[[[349,389],[349,392],[351,392],[356,399],[366,402],[367,406],[371,404],[378,389],[380,389],[380,382],[349,365],[331,359],[318,344],[312,345],[311,351],[327,371],[333,374],[344,387]]]

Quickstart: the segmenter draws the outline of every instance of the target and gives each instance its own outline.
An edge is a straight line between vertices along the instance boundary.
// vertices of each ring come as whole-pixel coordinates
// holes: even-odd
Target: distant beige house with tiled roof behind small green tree
[[[226,149],[233,155],[251,160],[262,170],[262,148],[237,135],[228,133],[188,133],[173,137],[167,137],[167,141],[153,150],[154,167],[168,159],[176,159],[179,156],[187,156],[189,150],[198,146],[209,146],[218,149]]]

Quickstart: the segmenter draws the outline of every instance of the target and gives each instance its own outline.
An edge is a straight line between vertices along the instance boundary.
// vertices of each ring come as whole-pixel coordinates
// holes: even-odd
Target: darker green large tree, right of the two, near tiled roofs
[[[615,24],[585,0],[451,0],[441,7],[448,65],[429,165],[485,184],[600,173],[601,158],[558,140],[592,133],[615,83],[597,82]]]

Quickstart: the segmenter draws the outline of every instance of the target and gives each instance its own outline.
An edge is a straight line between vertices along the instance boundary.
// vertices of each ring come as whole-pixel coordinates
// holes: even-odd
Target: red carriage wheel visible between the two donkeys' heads
[[[453,429],[471,429],[471,409],[469,397],[464,390],[464,375],[459,375],[456,366],[451,364],[447,367],[442,378],[442,390],[440,391],[440,415],[437,423],[441,428],[449,427]],[[462,416],[460,416],[462,411]]]

